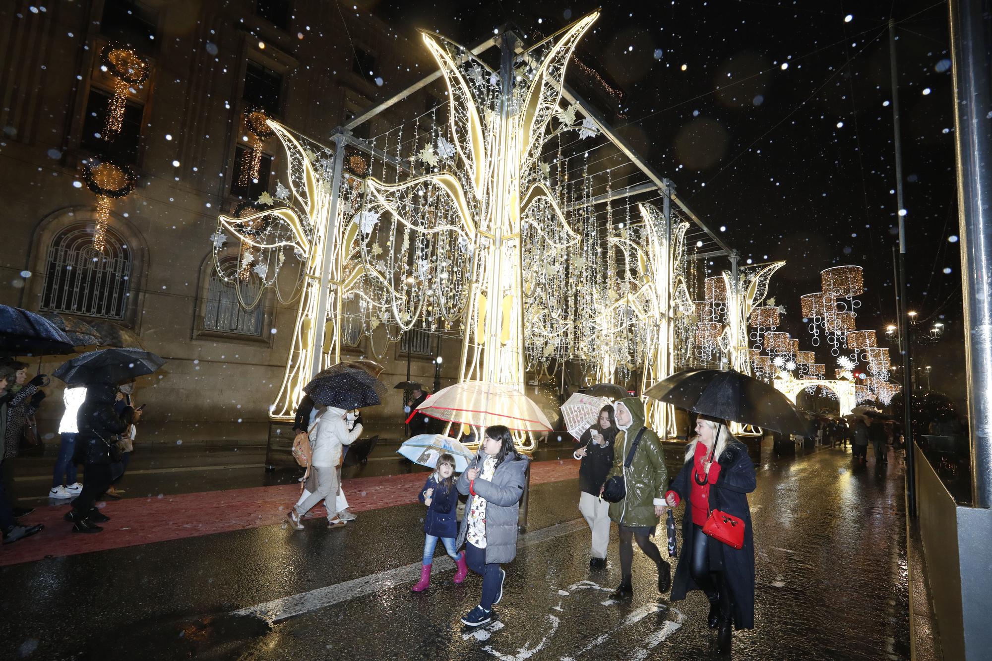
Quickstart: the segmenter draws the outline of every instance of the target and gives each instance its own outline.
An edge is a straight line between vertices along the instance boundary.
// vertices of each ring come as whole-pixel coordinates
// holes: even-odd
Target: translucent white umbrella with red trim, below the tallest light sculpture
[[[472,427],[505,425],[523,432],[549,432],[552,429],[541,407],[524,394],[523,388],[509,383],[455,383],[428,397],[417,411],[438,420]]]

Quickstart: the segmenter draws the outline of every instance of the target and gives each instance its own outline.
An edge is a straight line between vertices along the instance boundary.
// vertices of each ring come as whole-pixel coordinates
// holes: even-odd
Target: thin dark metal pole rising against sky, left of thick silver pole
[[[904,314],[899,316],[900,329],[906,328],[906,207],[903,205],[903,143],[899,130],[899,75],[896,70],[896,21],[889,19],[889,61],[892,68],[892,130],[896,145],[896,204],[899,217],[899,298]],[[908,492],[907,514],[917,515],[916,463],[913,454],[913,386],[910,382],[911,346],[909,333],[900,332],[906,338],[900,346],[903,353],[903,428],[906,433],[906,489]]]

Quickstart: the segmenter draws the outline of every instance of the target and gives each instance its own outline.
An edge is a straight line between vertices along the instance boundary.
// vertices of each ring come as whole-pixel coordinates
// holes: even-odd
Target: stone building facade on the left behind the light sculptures
[[[285,168],[270,140],[258,181],[239,185],[244,111],[264,107],[329,142],[334,127],[432,70],[416,35],[364,11],[342,15],[335,3],[301,0],[13,0],[0,8],[0,26],[8,56],[0,66],[0,303],[114,323],[167,358],[137,383],[146,441],[264,443],[296,310],[271,294],[256,311],[241,310],[214,275],[209,239],[219,212],[272,189],[273,173]],[[121,131],[108,145],[100,133],[114,87],[100,55],[111,43],[133,46],[150,75],[127,91]],[[363,130],[389,121],[383,113]],[[82,171],[108,151],[134,169],[137,185],[114,200],[106,251],[94,259],[95,197]],[[437,338],[409,341],[411,376],[433,384]],[[447,385],[457,342],[440,351]],[[363,355],[361,342],[346,354]],[[59,362],[37,366],[50,372]],[[399,346],[385,362],[383,380],[407,377]],[[43,433],[56,431],[61,386],[53,382],[39,412]],[[366,412],[370,430],[399,436],[401,399],[393,390]]]

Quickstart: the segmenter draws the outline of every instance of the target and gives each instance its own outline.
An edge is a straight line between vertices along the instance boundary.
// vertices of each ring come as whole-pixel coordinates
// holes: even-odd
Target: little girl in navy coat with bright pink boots
[[[421,567],[421,580],[411,590],[423,593],[431,585],[431,565],[434,564],[434,548],[438,539],[444,545],[447,555],[458,566],[453,581],[461,583],[468,574],[468,566],[465,564],[465,554],[457,553],[454,545],[454,538],[458,534],[458,489],[454,486],[453,457],[445,454],[437,458],[434,472],[428,477],[418,498],[428,506],[428,514],[424,517],[424,565]]]

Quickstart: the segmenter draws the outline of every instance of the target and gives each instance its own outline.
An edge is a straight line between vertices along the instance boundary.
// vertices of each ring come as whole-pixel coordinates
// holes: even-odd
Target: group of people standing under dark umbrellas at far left
[[[42,389],[49,378],[38,374],[29,379],[28,364],[16,360],[0,363],[0,438],[4,441],[0,479],[0,529],[4,544],[40,532],[42,524],[23,522],[34,508],[16,507],[14,463],[24,446],[37,445],[35,412],[45,399]],[[48,497],[70,500],[65,521],[72,531],[98,533],[110,520],[96,506],[104,495],[119,498],[115,487],[130,463],[137,437],[136,423],[143,407],[131,402],[134,384],[92,383],[70,386],[62,394],[64,410],[59,424],[59,454],[53,467]],[[83,465],[83,480],[78,478]]]

